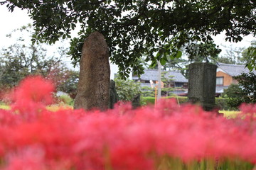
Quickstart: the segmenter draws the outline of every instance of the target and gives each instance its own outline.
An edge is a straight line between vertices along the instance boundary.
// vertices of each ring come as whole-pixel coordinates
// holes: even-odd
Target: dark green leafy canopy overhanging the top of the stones
[[[74,63],[80,59],[85,38],[99,31],[122,76],[131,68],[143,72],[138,64],[142,55],[147,61],[165,63],[168,57],[181,57],[183,45],[187,50],[198,42],[214,47],[212,36],[223,31],[226,40],[238,42],[256,30],[252,0],[9,0],[1,4],[9,11],[28,10],[36,30],[34,42],[70,38],[71,30],[80,26],[78,37],[70,41]]]

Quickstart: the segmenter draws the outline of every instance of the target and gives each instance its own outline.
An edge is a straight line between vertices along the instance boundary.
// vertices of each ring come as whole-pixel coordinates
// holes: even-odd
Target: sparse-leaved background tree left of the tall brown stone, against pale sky
[[[0,86],[1,89],[16,86],[18,82],[28,75],[41,75],[53,80],[57,90],[68,94],[75,94],[78,72],[70,71],[61,59],[65,57],[65,48],[58,48],[58,57],[49,56],[46,46],[29,43],[24,38],[32,35],[32,26],[23,26],[8,35],[10,38],[21,35],[14,45],[0,52]]]

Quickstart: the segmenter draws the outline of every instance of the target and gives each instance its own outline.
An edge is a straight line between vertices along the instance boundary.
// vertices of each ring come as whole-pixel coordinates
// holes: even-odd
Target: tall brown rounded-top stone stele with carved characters
[[[99,32],[89,35],[82,46],[78,94],[74,108],[108,108],[110,98],[110,62],[107,42]]]

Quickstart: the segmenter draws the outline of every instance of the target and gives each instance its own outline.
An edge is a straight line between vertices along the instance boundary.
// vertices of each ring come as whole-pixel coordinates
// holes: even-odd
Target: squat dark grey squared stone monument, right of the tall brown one
[[[205,111],[215,108],[216,69],[210,63],[189,65],[188,101],[200,103]]]

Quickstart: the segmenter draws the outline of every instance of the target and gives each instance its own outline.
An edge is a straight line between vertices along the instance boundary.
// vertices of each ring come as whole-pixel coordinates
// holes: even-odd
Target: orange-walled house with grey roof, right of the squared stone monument
[[[218,62],[216,71],[216,94],[222,94],[224,89],[228,89],[230,84],[238,84],[234,79],[242,73],[249,73],[249,69],[245,65],[223,64]]]

